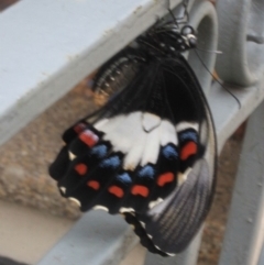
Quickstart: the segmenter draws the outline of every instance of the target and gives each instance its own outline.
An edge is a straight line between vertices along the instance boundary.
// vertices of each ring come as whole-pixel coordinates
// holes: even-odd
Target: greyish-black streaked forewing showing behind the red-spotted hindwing
[[[189,76],[188,87],[196,87],[197,104],[202,104],[205,110],[199,126],[204,154],[186,170],[186,180],[165,200],[144,214],[125,213],[142,244],[162,255],[179,253],[190,243],[209,211],[216,184],[217,144],[211,113],[193,70],[183,58],[180,67]]]

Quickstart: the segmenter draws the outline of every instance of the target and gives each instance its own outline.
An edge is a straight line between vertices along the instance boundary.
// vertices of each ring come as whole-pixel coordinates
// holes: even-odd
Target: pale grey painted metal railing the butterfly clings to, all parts
[[[221,13],[219,43],[224,45],[220,45],[223,55],[217,68],[224,80],[240,85],[230,90],[240,100],[241,108],[218,84],[210,85],[210,75],[194,54],[189,55],[208,92],[219,151],[264,99],[264,48],[261,43],[264,34],[263,26],[258,26],[258,23],[264,25],[264,15],[260,15],[264,12],[264,4],[261,0],[233,2],[237,8],[233,4],[227,8],[231,4],[228,0],[218,1],[218,13]],[[170,8],[178,3],[179,0],[170,1]],[[235,15],[238,4],[243,7],[241,9],[244,18],[248,15],[246,21],[255,21],[253,19],[257,13],[258,23],[248,25],[239,19]],[[1,13],[0,144],[152,25],[157,16],[166,14],[168,2],[164,0],[23,0]],[[200,47],[216,49],[218,22],[213,7],[204,0],[191,0],[189,12],[190,22],[198,27]],[[238,38],[241,42],[234,42]],[[248,43],[246,38],[253,42]],[[230,47],[234,43],[237,46]],[[212,69],[215,54],[202,54],[202,60]],[[230,71],[235,74],[229,75]],[[246,76],[245,73],[255,75]],[[230,79],[230,76],[235,78]],[[261,104],[249,122],[221,265],[264,264],[261,262],[263,235],[257,233],[263,227],[263,118],[264,108]],[[250,184],[253,184],[251,188],[246,183],[249,175]],[[248,201],[246,206],[243,206],[243,201]],[[200,235],[185,253],[173,258],[164,260],[147,254],[145,264],[194,265]],[[135,243],[136,238],[120,217],[91,211],[76,223],[38,265],[119,264]],[[262,260],[257,264],[260,256]]]

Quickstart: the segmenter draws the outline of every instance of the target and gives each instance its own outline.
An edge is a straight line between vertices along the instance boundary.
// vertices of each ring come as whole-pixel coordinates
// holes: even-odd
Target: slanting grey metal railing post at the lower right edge
[[[219,265],[256,265],[264,238],[264,102],[251,114]]]

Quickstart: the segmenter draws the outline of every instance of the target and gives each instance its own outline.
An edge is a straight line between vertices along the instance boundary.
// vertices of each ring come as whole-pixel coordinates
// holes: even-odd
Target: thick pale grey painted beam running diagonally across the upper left
[[[164,0],[23,0],[2,12],[0,145],[167,7]]]

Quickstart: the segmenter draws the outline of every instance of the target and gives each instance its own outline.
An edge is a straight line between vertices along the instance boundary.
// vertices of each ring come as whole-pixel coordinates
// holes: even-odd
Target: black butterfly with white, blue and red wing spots
[[[92,89],[107,103],[65,131],[50,166],[62,196],[122,213],[163,256],[190,243],[216,185],[212,115],[182,55],[196,41],[190,25],[162,21],[106,63]]]

